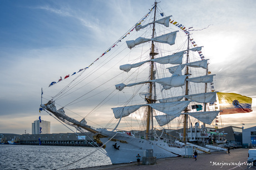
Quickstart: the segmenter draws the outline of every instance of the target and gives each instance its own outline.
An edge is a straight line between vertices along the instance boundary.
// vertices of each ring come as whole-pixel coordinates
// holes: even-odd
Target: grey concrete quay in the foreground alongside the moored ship
[[[256,169],[247,167],[248,149],[231,149],[230,154],[213,152],[211,154],[199,154],[197,160],[194,158],[164,158],[157,159],[156,164],[137,166],[136,162],[116,164],[101,167],[81,168],[84,170],[96,169]],[[81,170],[80,169],[80,170]]]

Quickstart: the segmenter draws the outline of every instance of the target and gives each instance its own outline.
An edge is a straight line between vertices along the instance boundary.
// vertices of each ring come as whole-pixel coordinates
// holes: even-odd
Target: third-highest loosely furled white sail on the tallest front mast
[[[122,71],[125,72],[129,72],[131,70],[131,68],[136,68],[136,67],[140,67],[142,64],[146,63],[146,62],[157,62],[160,64],[181,64],[182,63],[182,59],[183,59],[183,54],[184,52],[178,52],[169,56],[165,56],[165,57],[159,57],[159,58],[155,58],[155,59],[150,59],[144,62],[139,62],[139,63],[135,63],[135,64],[124,64],[122,66],[120,66],[120,69]]]

